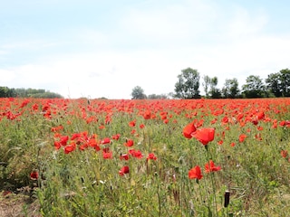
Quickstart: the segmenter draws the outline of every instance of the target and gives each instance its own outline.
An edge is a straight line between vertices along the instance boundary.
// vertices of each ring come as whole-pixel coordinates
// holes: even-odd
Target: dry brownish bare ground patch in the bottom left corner
[[[0,216],[3,217],[40,217],[37,200],[24,193],[3,191],[0,194]]]

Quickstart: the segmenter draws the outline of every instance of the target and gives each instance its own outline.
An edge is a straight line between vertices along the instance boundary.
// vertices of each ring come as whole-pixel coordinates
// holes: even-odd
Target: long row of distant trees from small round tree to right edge
[[[205,96],[200,95],[200,83],[205,92]],[[226,79],[222,89],[218,89],[218,77],[210,78],[204,75],[200,78],[197,70],[187,68],[178,75],[175,83],[174,93],[151,94],[148,97],[140,86],[136,86],[132,92],[132,99],[237,99],[237,98],[274,98],[290,97],[290,70],[284,69],[267,75],[265,80],[257,75],[250,75],[246,79],[246,84],[240,90],[237,78]]]

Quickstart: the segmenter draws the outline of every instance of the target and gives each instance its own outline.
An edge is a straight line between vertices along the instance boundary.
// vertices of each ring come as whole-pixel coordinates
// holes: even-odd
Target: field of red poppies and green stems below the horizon
[[[0,99],[1,196],[27,189],[41,216],[286,216],[289,110],[290,99]]]

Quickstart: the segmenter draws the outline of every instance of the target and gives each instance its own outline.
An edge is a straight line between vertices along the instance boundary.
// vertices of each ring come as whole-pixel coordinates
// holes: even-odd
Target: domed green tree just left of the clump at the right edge
[[[243,95],[246,98],[265,97],[265,85],[259,76],[250,75],[247,77],[246,84],[243,85]]]

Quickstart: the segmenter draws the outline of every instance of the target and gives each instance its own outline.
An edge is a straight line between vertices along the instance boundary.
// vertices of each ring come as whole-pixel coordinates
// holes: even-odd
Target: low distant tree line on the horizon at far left
[[[0,87],[0,98],[63,98],[62,95],[43,89],[9,89]]]

